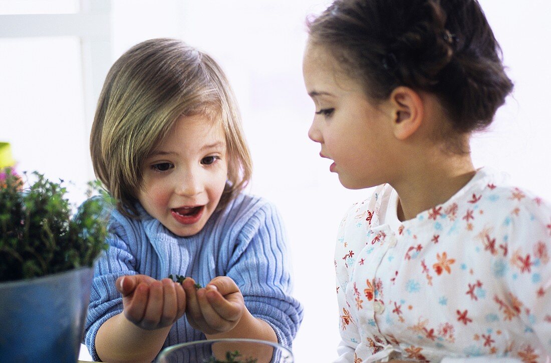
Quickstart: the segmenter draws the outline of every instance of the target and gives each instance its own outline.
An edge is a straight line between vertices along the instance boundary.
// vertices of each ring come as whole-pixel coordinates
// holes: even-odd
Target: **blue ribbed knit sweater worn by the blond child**
[[[225,275],[232,278],[251,314],[266,321],[280,344],[291,346],[302,321],[302,307],[291,296],[287,237],[280,216],[266,200],[239,194],[213,213],[196,235],[179,237],[138,205],[140,219],[109,207],[109,250],[95,267],[84,341],[99,360],[95,337],[107,319],[122,312],[115,288],[121,275],[145,274],[155,279],[190,276],[201,285]],[[182,316],[170,329],[164,347],[206,339]]]

